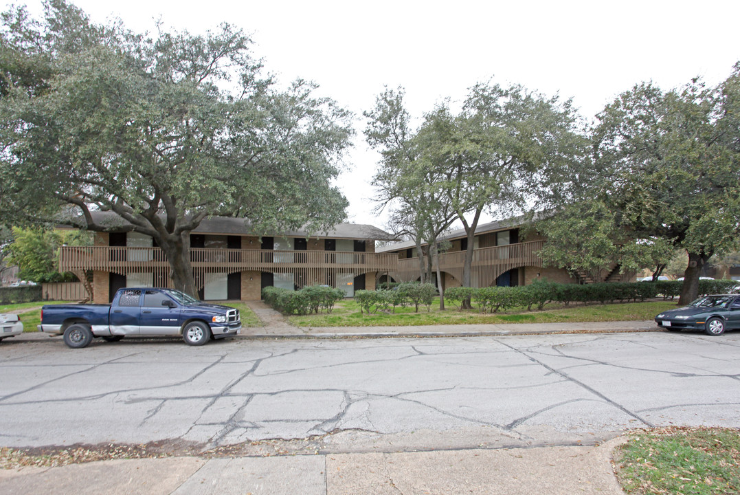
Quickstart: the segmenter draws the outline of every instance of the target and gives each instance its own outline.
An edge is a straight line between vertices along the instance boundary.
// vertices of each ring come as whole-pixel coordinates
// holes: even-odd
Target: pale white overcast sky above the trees
[[[21,1],[3,1],[22,4]],[[40,0],[25,2],[40,10]],[[266,1],[76,0],[95,22],[132,30],[202,33],[223,21],[243,28],[254,54],[281,82],[301,77],[357,115],[352,167],[340,178],[349,220],[383,228],[371,212],[377,155],[363,110],[388,87],[406,88],[411,115],[460,101],[479,81],[519,83],[573,98],[591,120],[620,92],[653,80],[664,89],[696,75],[727,78],[740,60],[740,1]],[[3,8],[3,10],[5,10]]]

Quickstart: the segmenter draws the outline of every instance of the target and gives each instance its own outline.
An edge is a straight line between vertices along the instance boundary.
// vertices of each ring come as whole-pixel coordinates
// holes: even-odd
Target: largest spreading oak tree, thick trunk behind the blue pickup
[[[279,89],[249,36],[228,24],[141,35],[92,24],[64,0],[44,5],[41,19],[3,16],[5,223],[141,232],[166,253],[175,287],[195,294],[189,234],[204,218],[248,218],[258,235],[345,218],[330,181],[349,113],[306,81]]]

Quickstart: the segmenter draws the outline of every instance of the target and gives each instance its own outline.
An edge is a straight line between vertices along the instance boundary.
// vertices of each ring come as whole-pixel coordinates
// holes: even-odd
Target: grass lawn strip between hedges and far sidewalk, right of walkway
[[[354,300],[343,300],[334,306],[331,314],[309,314],[291,316],[295,326],[415,326],[415,325],[464,325],[475,323],[567,323],[583,321],[630,321],[652,320],[666,309],[675,309],[676,301],[660,300],[645,303],[577,304],[568,307],[548,305],[543,311],[528,312],[526,308],[504,313],[480,313],[474,310],[458,310],[447,306],[440,311],[439,300],[431,306],[431,312],[420,308],[396,308],[395,313],[361,314],[360,305]]]

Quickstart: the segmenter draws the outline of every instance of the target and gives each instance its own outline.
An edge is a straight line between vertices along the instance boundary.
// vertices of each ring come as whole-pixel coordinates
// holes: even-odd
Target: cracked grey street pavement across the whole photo
[[[317,451],[410,451],[740,427],[739,351],[740,332],[9,341],[0,445],[313,437]]]

